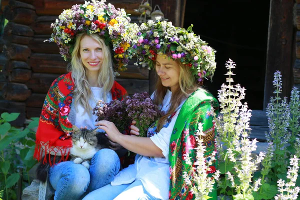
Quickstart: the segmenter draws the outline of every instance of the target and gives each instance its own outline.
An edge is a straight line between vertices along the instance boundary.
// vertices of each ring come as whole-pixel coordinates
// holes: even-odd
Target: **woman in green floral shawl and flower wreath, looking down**
[[[191,170],[186,155],[195,161],[199,122],[205,134],[205,156],[215,151],[211,110],[217,112],[218,103],[200,87],[215,70],[214,50],[191,27],[185,30],[158,18],[141,24],[136,50],[139,61],[157,72],[151,97],[165,114],[148,128],[147,137],[123,135],[112,122],[97,122],[111,141],[137,155],[134,164],[121,170],[110,184],[84,199],[194,199],[182,174]],[[138,134],[138,129],[131,125],[130,132]],[[206,172],[212,174],[215,164]],[[215,190],[209,196],[216,199]]]

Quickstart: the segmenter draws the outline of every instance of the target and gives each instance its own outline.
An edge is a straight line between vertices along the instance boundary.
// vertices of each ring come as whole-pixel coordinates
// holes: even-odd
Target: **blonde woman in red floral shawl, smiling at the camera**
[[[112,149],[120,146],[113,142],[112,149],[100,149],[92,156],[89,167],[67,160],[73,125],[96,128],[92,108],[97,100],[121,100],[126,95],[114,75],[124,70],[132,57],[137,25],[129,21],[123,9],[92,0],[64,10],[51,24],[50,41],[56,42],[60,54],[70,61],[70,72],[56,78],[46,95],[34,157],[42,161],[39,168],[51,166],[46,177],[55,190],[54,199],[79,199],[84,192],[109,183],[119,171],[120,160]],[[60,159],[53,159],[55,156]]]

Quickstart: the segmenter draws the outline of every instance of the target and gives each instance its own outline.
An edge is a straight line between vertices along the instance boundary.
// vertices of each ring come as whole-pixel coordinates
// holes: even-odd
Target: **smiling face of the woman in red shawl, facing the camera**
[[[84,35],[80,40],[80,58],[86,67],[87,73],[99,73],[102,62],[102,44],[89,35]]]

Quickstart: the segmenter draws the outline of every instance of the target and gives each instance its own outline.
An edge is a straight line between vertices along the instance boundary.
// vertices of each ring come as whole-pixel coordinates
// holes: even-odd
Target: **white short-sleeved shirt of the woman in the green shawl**
[[[167,90],[163,101],[162,110],[167,111],[172,92]],[[153,94],[151,95],[153,98]],[[157,134],[150,137],[153,143],[162,150],[164,157],[148,157],[136,155],[134,164],[119,171],[111,185],[131,183],[135,179],[141,180],[145,189],[156,198],[168,199],[169,190],[169,141],[172,129],[177,119],[179,110],[186,99],[178,106],[175,115],[170,119],[168,125],[160,129]]]

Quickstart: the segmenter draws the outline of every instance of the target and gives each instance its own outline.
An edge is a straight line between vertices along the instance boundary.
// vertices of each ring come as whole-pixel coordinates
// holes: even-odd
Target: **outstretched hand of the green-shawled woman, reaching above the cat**
[[[106,132],[106,136],[110,141],[118,143],[117,139],[122,133],[118,131],[113,122],[101,120],[96,122],[95,125],[98,125],[100,129],[103,129]]]

